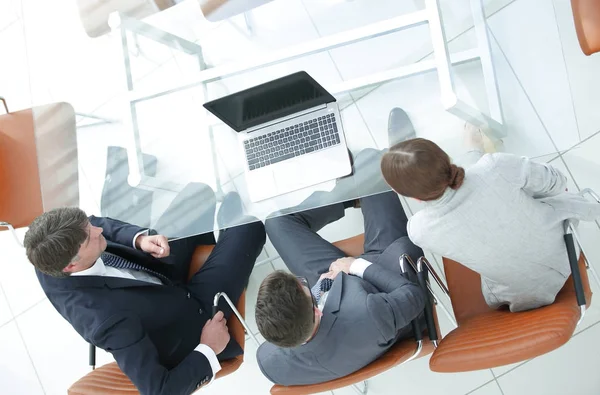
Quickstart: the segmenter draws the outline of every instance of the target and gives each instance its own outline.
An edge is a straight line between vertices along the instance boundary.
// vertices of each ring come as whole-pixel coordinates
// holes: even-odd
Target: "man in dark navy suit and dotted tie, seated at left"
[[[205,236],[169,242],[152,230],[63,208],[31,224],[25,248],[58,312],[86,341],[112,353],[142,394],[188,395],[214,378],[219,360],[242,353],[227,331],[230,309],[223,303],[211,319],[212,300],[217,292],[239,299],[265,242],[257,221],[221,231],[187,282]]]

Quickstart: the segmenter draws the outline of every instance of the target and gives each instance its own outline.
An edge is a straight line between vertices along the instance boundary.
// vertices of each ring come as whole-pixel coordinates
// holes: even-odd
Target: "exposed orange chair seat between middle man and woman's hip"
[[[471,317],[491,311],[481,292],[479,273],[452,259],[443,258],[443,262],[456,322],[460,325]]]

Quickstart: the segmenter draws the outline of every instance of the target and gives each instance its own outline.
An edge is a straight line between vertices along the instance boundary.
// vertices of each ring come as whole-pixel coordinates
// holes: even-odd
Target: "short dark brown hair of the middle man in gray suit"
[[[261,335],[279,347],[296,347],[312,334],[313,303],[293,274],[277,270],[258,289],[256,325]]]

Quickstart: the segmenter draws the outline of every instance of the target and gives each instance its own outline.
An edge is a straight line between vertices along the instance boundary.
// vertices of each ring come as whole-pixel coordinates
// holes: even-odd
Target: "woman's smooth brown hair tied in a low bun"
[[[385,181],[400,195],[420,200],[440,198],[446,188],[458,189],[465,169],[453,165],[436,143],[411,139],[394,145],[381,158]]]

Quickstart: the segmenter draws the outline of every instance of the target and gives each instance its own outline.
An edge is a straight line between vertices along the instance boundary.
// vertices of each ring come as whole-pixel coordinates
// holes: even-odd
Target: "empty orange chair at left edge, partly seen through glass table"
[[[0,228],[14,233],[45,210],[79,205],[75,111],[55,103],[9,112],[0,101]]]

